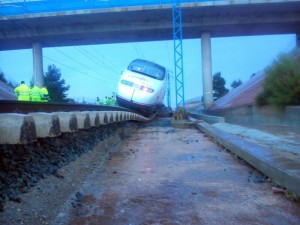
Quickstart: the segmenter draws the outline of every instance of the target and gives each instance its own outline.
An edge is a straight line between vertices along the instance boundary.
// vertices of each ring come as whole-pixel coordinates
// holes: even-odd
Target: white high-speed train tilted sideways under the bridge
[[[133,60],[118,83],[117,103],[151,115],[163,105],[167,88],[167,69],[142,59]]]

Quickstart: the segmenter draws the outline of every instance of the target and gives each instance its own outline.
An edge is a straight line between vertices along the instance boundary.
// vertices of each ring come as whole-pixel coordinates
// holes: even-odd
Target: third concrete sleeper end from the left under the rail
[[[75,132],[78,130],[76,115],[72,112],[58,112],[55,113],[59,118],[60,130],[64,132]]]

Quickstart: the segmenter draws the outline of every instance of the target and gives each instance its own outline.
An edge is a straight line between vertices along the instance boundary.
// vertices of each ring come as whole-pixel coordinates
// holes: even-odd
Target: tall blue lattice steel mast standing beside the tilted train
[[[182,54],[182,14],[181,1],[173,0],[173,40],[174,40],[174,72],[176,89],[176,110],[184,104],[184,82],[183,82],[183,54]]]

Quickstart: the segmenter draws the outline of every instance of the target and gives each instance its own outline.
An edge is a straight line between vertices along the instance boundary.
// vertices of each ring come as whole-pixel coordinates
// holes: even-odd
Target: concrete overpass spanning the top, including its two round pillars
[[[208,107],[212,103],[210,38],[299,34],[300,0],[183,3],[182,25],[184,39],[202,40],[203,94]],[[171,39],[170,4],[0,17],[0,50],[33,48],[37,84],[42,83],[42,47]]]

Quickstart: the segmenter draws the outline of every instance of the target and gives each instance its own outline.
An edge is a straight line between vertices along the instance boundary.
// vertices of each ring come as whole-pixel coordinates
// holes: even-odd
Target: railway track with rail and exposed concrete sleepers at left
[[[150,121],[139,113],[115,106],[0,101],[0,145],[27,144],[122,121]]]

